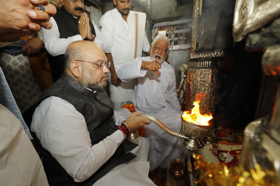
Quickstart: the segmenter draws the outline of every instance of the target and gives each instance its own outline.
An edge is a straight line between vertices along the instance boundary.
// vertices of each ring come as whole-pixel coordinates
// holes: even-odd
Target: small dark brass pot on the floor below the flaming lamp
[[[170,163],[170,175],[172,178],[180,180],[184,178],[185,163],[180,159],[173,159]]]

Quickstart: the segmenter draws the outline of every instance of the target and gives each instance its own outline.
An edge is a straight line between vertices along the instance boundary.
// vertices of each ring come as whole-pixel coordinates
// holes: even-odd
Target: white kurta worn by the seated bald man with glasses
[[[117,130],[92,145],[83,115],[69,102],[54,96],[45,99],[36,108],[31,130],[36,133],[43,148],[52,154],[76,182],[84,181],[94,174],[124,140],[124,134]],[[131,151],[138,157],[116,166],[94,185],[121,186],[139,180],[142,180],[140,185],[154,185],[147,176],[148,140],[140,138],[132,142],[139,144]]]

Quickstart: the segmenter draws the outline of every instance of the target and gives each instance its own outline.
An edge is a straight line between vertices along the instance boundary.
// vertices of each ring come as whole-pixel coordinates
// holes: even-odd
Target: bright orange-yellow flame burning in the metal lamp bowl
[[[211,120],[213,118],[212,114],[211,113],[209,113],[210,115],[200,114],[199,102],[200,102],[200,100],[194,101],[194,104],[193,104],[194,108],[192,108],[192,111],[184,111],[182,118],[187,122],[195,123],[198,125],[204,125],[204,126],[211,125],[209,120]]]

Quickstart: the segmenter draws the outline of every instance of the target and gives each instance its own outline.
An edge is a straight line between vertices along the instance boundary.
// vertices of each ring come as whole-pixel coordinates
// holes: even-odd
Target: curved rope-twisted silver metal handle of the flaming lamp
[[[172,131],[169,128],[167,128],[161,121],[159,121],[156,117],[150,115],[150,114],[139,114],[138,116],[141,117],[145,117],[149,120],[151,120],[152,122],[154,122],[157,126],[159,126],[163,131],[165,131],[167,134],[175,136],[177,138],[182,138],[182,139],[189,139],[188,136],[184,135],[184,134],[180,134],[178,132]],[[137,132],[137,131],[136,131]],[[137,136],[135,134],[133,134],[134,132],[132,132],[132,135],[128,135],[128,138],[130,139],[135,139],[134,136]],[[130,136],[133,136],[133,138],[131,138]],[[138,136],[137,136],[138,137]]]

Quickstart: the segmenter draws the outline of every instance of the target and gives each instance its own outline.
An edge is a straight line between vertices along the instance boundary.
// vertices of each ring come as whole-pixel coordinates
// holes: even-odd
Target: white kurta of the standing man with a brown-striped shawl
[[[130,63],[134,59],[135,52],[135,16],[133,11],[129,11],[127,21],[125,21],[118,9],[107,11],[100,19],[101,32],[105,36],[112,50],[112,57],[115,70],[123,64]],[[137,12],[142,15],[143,13]],[[138,21],[138,28],[142,28],[142,43],[138,42],[138,48],[141,47],[144,52],[150,51],[150,44],[145,32],[146,20]],[[141,51],[142,51],[141,50]],[[141,57],[142,53],[137,55]],[[113,102],[130,101],[134,93],[134,81],[122,82],[121,86],[110,85],[110,96]]]

